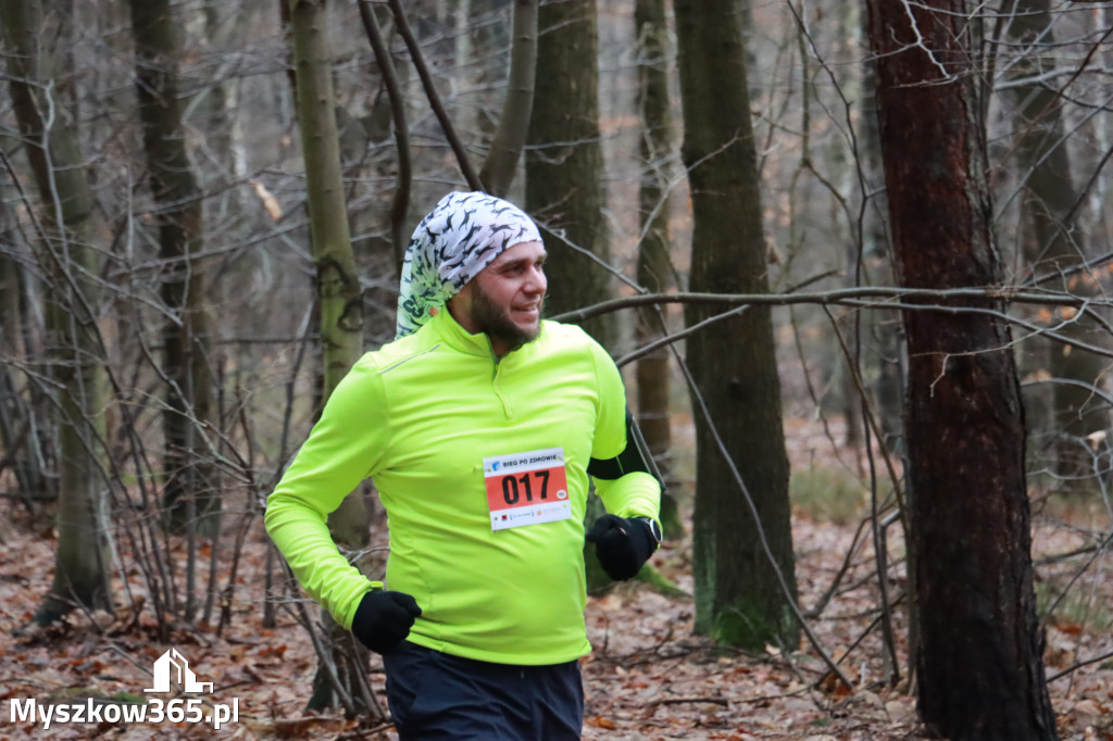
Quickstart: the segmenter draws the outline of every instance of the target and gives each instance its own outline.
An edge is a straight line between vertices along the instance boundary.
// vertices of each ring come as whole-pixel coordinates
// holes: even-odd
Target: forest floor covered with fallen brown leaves
[[[808,447],[806,442],[797,444],[797,449]],[[794,466],[814,466],[797,457]],[[129,606],[136,603],[120,587],[116,597],[121,606],[116,615],[78,612],[60,626],[27,630],[50,586],[56,543],[49,524],[28,520],[14,503],[4,506],[8,511],[0,515],[0,739],[396,738],[388,723],[303,712],[316,658],[290,611],[278,611],[275,628],[262,626],[266,541],[257,518],[243,544],[230,620],[223,630],[171,625],[160,639],[149,603]],[[1082,506],[1057,507],[1054,516],[1037,507],[1034,518],[1037,594],[1041,604],[1055,603],[1047,621],[1045,662],[1053,678],[1050,690],[1060,737],[1113,740],[1113,576],[1105,552],[1086,550],[1109,532],[1107,521],[1100,522],[1101,512]],[[896,604],[894,683],[877,625],[879,587],[868,530],[855,545],[859,520],[833,521],[816,516],[816,507],[794,507],[796,574],[805,611],[820,603],[844,562],[849,563],[829,602],[808,624],[824,651],[840,659],[853,690],[829,674],[807,639],[790,650],[774,645],[758,653],[717,649],[693,634],[690,599],[664,596],[641,583],[623,584],[589,599],[589,638],[595,650],[582,662],[583,738],[928,738],[917,724],[915,699],[908,693],[899,542],[888,549],[894,563],[887,587]],[[234,532],[221,537],[221,549],[230,550],[234,537]],[[127,554],[121,555],[127,563]],[[180,563],[184,556],[176,557]],[[666,544],[653,563],[691,592],[687,540]],[[141,574],[126,569],[126,575],[132,595],[141,594]],[[228,577],[228,564],[220,560],[217,580],[221,587]],[[91,724],[56,722],[43,730],[41,722],[21,719],[14,711],[18,701],[26,712],[28,699],[46,704],[87,703],[92,698],[98,707],[112,699],[141,702],[155,660],[170,648],[188,660],[198,680],[214,683],[206,702],[238,704],[236,722],[219,732],[206,724],[166,721],[154,725],[109,719]],[[375,656],[370,679],[385,708],[383,673]],[[209,705],[201,708],[209,712]]]

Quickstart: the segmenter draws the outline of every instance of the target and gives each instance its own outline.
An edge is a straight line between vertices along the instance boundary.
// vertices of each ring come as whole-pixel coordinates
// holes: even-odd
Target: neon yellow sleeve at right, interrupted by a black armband
[[[599,378],[599,417],[591,457],[602,461],[618,456],[627,445],[636,443],[627,439],[622,376],[607,352],[594,342],[592,353]],[[652,474],[633,471],[613,480],[593,476],[592,481],[609,513],[622,517],[660,517],[661,486]]]

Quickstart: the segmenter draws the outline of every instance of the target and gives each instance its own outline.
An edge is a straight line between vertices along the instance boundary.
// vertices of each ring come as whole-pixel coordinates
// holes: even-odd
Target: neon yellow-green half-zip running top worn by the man
[[[356,363],[267,500],[265,522],[306,592],[349,629],[377,583],[338,553],[325,520],[371,476],[390,522],[387,587],[422,609],[410,641],[496,663],[571,661],[591,650],[587,466],[624,446],[621,377],[583,330],[545,322],[536,340],[496,362],[486,335],[443,310]],[[515,482],[503,480],[500,493],[492,478],[489,488],[484,460],[495,475],[492,458],[554,448],[563,448],[567,518],[495,530],[505,516],[489,502],[524,498]],[[531,480],[534,496],[542,475],[548,482],[548,473]],[[660,488],[649,474],[595,485],[609,512],[658,516]]]

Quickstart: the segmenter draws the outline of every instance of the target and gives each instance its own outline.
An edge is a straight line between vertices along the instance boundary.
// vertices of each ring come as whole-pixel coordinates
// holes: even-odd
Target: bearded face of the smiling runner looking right
[[[548,286],[544,261],[540,241],[514,245],[453,297],[452,315],[464,329],[486,334],[498,356],[536,339]]]

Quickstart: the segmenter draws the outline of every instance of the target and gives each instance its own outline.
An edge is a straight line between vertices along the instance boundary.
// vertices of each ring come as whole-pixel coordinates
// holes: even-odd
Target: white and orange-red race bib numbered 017
[[[572,517],[563,447],[483,458],[483,481],[491,530]]]

